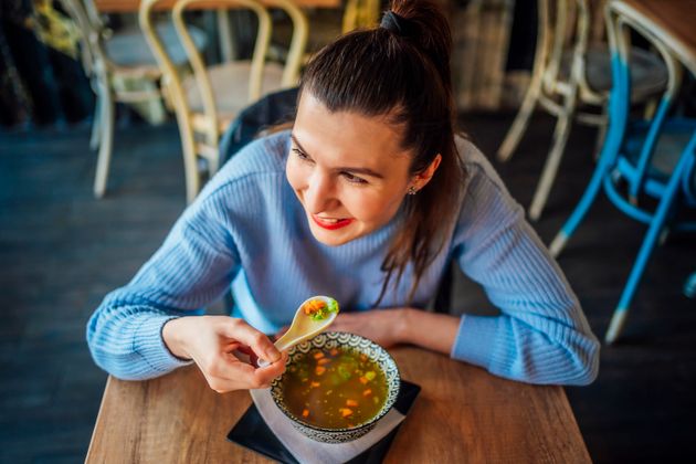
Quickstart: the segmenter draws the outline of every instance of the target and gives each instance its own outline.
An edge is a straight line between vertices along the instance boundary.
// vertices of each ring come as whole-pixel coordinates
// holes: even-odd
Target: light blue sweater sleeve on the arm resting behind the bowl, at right
[[[531,383],[588,384],[599,342],[560,267],[488,165],[471,165],[454,259],[499,316],[464,315],[451,356]]]

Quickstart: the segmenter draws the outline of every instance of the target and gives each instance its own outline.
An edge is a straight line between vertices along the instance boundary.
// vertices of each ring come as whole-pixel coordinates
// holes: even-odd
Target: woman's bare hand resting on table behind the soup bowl
[[[405,309],[372,309],[341,313],[329,326],[331,331],[349,331],[369,338],[384,348],[404,342]]]

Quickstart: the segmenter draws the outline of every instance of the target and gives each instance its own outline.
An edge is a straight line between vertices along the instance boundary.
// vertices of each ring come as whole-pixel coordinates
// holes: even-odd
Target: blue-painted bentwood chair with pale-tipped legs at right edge
[[[550,245],[551,254],[557,256],[602,188],[619,210],[648,224],[607,331],[608,344],[613,342],[623,328],[631,300],[661,235],[666,231],[696,231],[696,222],[679,220],[676,214],[679,208],[696,207],[696,122],[669,117],[682,65],[654,31],[612,7],[610,3],[607,9],[607,23],[614,85],[609,99],[607,138],[582,199]],[[667,89],[650,120],[631,118],[631,70],[626,65],[631,30],[655,46],[669,70]],[[656,207],[646,205],[651,202],[656,202]]]

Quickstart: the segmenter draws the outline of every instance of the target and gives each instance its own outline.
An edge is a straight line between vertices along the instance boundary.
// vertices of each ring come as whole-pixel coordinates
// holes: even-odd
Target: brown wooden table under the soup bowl
[[[562,388],[419,348],[390,352],[422,390],[386,462],[591,462]],[[86,462],[268,462],[225,439],[250,404],[246,391],[213,392],[194,366],[143,382],[109,378]]]

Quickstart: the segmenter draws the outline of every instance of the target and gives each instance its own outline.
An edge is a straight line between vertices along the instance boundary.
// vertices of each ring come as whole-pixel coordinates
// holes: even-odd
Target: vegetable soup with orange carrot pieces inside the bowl
[[[387,397],[387,378],[367,355],[351,349],[313,349],[283,378],[289,411],[304,422],[342,429],[369,422]]]

